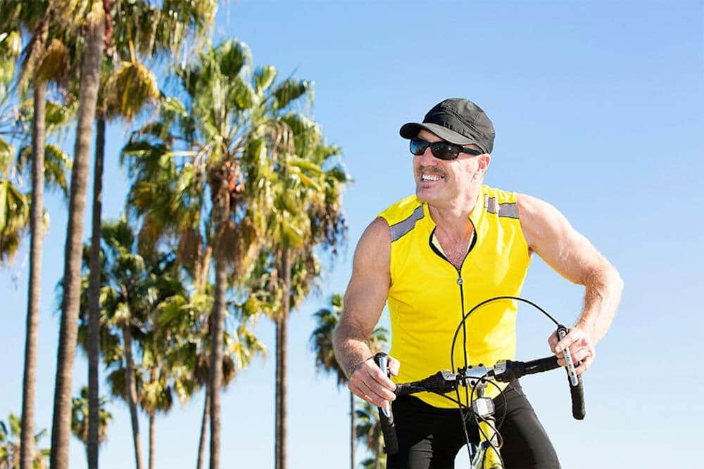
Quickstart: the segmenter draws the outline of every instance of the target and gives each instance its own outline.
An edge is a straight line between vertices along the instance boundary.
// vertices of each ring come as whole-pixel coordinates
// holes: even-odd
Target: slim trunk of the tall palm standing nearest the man
[[[277,376],[276,394],[279,398],[279,413],[277,420],[279,425],[279,469],[286,469],[286,428],[287,428],[287,337],[289,311],[291,309],[291,250],[284,248],[281,259],[284,281],[284,290],[281,316],[277,322],[277,359],[279,361],[279,375]]]

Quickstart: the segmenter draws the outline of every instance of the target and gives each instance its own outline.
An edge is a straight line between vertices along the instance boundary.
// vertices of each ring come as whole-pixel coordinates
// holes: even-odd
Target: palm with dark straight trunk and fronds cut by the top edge
[[[96,151],[94,162],[93,219],[91,264],[99,271],[101,236],[101,197],[106,119],[122,118],[130,122],[150,101],[156,101],[159,91],[153,73],[138,56],[158,60],[165,55],[177,55],[184,38],[194,32],[196,42],[212,25],[217,2],[198,0],[190,2],[164,2],[159,6],[149,1],[118,2],[115,15],[109,15],[111,24],[107,34],[108,56],[112,62],[121,60],[116,68],[111,60],[103,67],[102,102],[96,113]],[[90,278],[89,318],[89,401],[91,415],[98,412],[98,360],[99,360],[99,289],[100,278]],[[96,420],[93,418],[92,420]],[[89,430],[89,467],[98,465],[96,425]]]

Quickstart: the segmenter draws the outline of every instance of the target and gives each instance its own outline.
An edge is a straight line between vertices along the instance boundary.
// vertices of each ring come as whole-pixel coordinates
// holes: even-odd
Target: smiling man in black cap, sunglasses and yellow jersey
[[[401,127],[413,153],[415,195],[384,210],[358,243],[335,356],[349,388],[376,406],[394,401],[394,383],[374,361],[370,333],[389,302],[391,374],[398,382],[449,366],[448,349],[462,315],[490,297],[519,296],[536,252],[563,277],[585,287],[584,308],[567,336],[548,339],[559,363],[569,347],[582,374],[608,330],[622,290],[616,269],[552,205],[484,186],[494,126],[465,99],[446,99],[422,123]],[[467,319],[455,363],[491,366],[515,354],[515,302],[493,302]],[[507,468],[560,467],[545,430],[517,382],[487,388],[501,427]],[[505,406],[505,407],[504,407]],[[453,410],[454,409],[454,410]],[[457,404],[420,393],[393,402],[398,454],[389,468],[452,467],[465,444]],[[477,439],[476,428],[470,437]]]

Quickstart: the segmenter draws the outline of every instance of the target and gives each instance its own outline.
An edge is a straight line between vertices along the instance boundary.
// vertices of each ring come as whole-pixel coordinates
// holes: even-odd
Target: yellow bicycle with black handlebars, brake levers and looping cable
[[[490,298],[489,300],[480,302],[475,307],[470,309],[470,311],[463,316],[457,330],[455,330],[450,351],[451,369],[455,369],[453,359],[455,342],[457,340],[460,328],[467,320],[467,317],[469,317],[470,314],[476,311],[479,307],[484,306],[484,304],[498,300],[516,300],[530,304],[536,309],[539,309],[539,311],[545,314],[558,326],[558,338],[560,338],[560,340],[562,340],[562,338],[564,338],[568,333],[565,326],[562,326],[562,324],[558,323],[558,321],[555,321],[553,316],[548,314],[547,311],[529,300],[510,296]],[[577,362],[577,364],[572,363],[572,356],[570,355],[569,349],[565,349],[564,355],[565,362],[567,364],[567,366],[565,366],[567,370],[567,381],[570,384],[570,394],[572,398],[572,416],[577,420],[583,420],[585,416],[584,383],[582,382],[582,377],[577,376],[577,373],[574,371],[574,368],[579,366],[579,362]],[[382,369],[382,372],[389,375],[387,363],[388,356],[384,352],[379,352],[375,355],[374,359],[377,366]],[[508,383],[510,381],[522,378],[525,375],[543,373],[555,368],[560,368],[558,358],[555,355],[546,356],[544,358],[531,361],[500,360],[497,361],[494,366],[491,366],[491,368],[487,368],[483,364],[471,366],[465,361],[464,366],[458,367],[456,373],[451,370],[443,370],[412,383],[397,383],[394,393],[396,394],[396,397],[401,397],[408,394],[415,394],[416,392],[434,392],[450,399],[451,401],[454,401],[458,404],[460,409],[463,430],[467,441],[467,451],[470,456],[470,467],[472,469],[503,469],[504,464],[501,459],[501,452],[499,451],[503,444],[501,435],[498,432],[498,427],[500,425],[496,425],[496,418],[494,416],[494,401],[492,401],[491,398],[484,396],[487,385],[494,385],[498,387],[494,381]],[[470,442],[470,437],[467,432],[466,416],[464,411],[470,409],[465,409],[467,406],[460,401],[460,386],[471,388],[472,390],[469,399],[472,403],[471,413],[475,423],[477,424],[477,428],[479,429],[479,444],[476,446]],[[452,391],[457,393],[457,400],[446,395],[446,393]],[[476,399],[474,398],[475,393],[477,396]],[[396,454],[396,452],[398,452],[398,441],[396,439],[394,415],[391,412],[391,406],[388,404],[386,407],[379,407],[379,423],[381,423],[382,434],[384,435],[384,451],[386,454]]]

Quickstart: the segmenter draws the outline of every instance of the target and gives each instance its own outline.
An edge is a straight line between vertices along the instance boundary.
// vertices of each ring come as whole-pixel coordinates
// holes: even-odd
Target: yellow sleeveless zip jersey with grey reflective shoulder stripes
[[[391,229],[391,356],[401,361],[397,383],[451,369],[453,335],[463,314],[491,297],[519,296],[530,262],[518,219],[516,194],[482,186],[470,214],[474,240],[461,269],[433,243],[435,223],[415,195],[379,214]],[[505,300],[474,311],[466,323],[467,361],[491,366],[513,359],[517,305]],[[455,368],[463,366],[463,330],[455,344]],[[502,388],[505,385],[502,385]],[[496,397],[489,385],[486,395]],[[432,406],[457,404],[437,394],[415,394]],[[464,392],[461,390],[460,395]],[[456,399],[454,392],[448,396]]]

